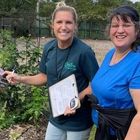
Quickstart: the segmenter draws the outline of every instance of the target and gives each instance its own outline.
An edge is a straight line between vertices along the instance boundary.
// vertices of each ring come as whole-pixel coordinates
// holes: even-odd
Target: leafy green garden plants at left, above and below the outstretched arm
[[[20,74],[38,73],[42,48],[31,41],[30,36],[13,41],[12,33],[2,31],[0,40],[0,67]],[[20,45],[17,45],[20,43]],[[32,121],[35,125],[48,108],[46,87],[19,84],[8,85],[0,94],[0,129],[12,124]]]

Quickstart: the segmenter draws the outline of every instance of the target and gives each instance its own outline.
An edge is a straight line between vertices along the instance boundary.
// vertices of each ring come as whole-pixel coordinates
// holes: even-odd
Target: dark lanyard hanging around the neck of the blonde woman
[[[72,46],[70,46],[70,47],[67,48],[68,49],[68,52],[67,52],[65,58],[63,59],[64,62],[62,64],[62,68],[59,70],[59,72],[58,72],[58,47],[56,47],[56,57],[55,57],[55,65],[56,66],[55,66],[55,68],[56,68],[56,76],[57,76],[57,80],[58,81],[60,81],[62,79],[62,71],[64,69],[65,63],[67,62],[67,60],[69,58],[71,47]],[[63,50],[63,51],[65,51],[65,50]]]

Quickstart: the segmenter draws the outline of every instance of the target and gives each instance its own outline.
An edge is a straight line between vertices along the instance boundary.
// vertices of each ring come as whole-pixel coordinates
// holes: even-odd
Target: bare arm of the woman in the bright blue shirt
[[[131,122],[125,140],[140,140],[140,89],[131,89],[130,93],[137,113]]]

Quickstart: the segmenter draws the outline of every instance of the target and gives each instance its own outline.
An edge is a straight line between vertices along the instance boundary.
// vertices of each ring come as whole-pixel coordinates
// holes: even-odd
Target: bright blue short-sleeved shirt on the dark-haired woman
[[[134,106],[130,89],[140,89],[140,53],[129,52],[120,62],[110,65],[115,49],[106,55],[99,71],[92,80],[92,90],[100,106],[126,109]],[[92,111],[98,124],[98,112]]]

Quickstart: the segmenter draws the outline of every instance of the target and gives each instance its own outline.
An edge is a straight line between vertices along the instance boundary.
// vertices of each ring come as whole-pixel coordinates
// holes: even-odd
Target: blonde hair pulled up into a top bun
[[[77,24],[78,16],[77,16],[75,8],[66,5],[64,1],[61,1],[61,2],[57,3],[56,8],[55,8],[55,10],[52,14],[52,20],[51,20],[52,23],[55,19],[56,13],[59,12],[59,11],[69,11],[69,12],[71,12],[72,15],[73,15],[74,22]]]

